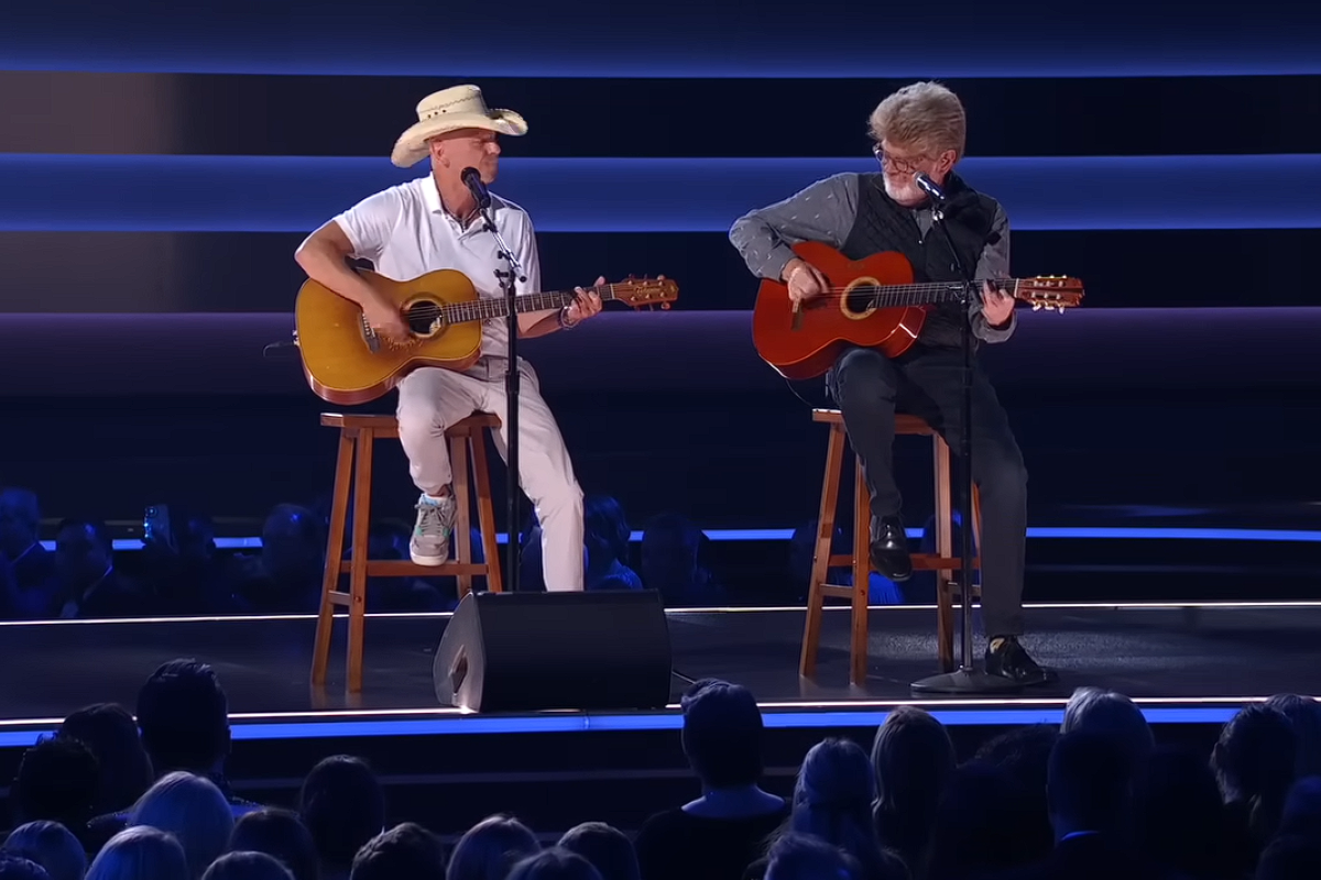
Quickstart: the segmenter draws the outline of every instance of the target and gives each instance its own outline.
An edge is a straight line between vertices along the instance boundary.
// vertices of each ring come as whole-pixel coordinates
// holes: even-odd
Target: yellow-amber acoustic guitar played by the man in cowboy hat
[[[411,281],[394,281],[366,269],[359,274],[399,306],[411,336],[404,343],[388,343],[355,302],[317,281],[304,282],[293,310],[303,372],[317,397],[332,404],[375,400],[419,367],[468,369],[481,358],[481,322],[509,315],[503,297],[480,297],[468,276],[454,269],[428,272]],[[679,297],[679,285],[668,278],[629,278],[584,290],[633,307],[668,309]],[[514,310],[560,309],[576,297],[572,290],[527,293],[514,298]]]

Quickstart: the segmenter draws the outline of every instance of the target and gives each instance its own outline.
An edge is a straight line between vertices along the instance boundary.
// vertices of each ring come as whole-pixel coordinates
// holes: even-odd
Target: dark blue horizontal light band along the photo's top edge
[[[1259,0],[1247,9],[1205,5],[1196,20],[1172,15],[1173,7],[1128,0],[1066,8],[1022,0],[1004,16],[963,3],[943,9],[947,15],[931,38],[923,33],[931,20],[917,5],[835,0],[814,3],[791,17],[748,15],[756,8],[513,0],[501,4],[499,15],[514,26],[495,32],[490,7],[480,4],[369,8],[310,0],[194,0],[161,15],[161,5],[149,0],[32,3],[5,17],[0,67],[395,75],[437,80],[437,87],[448,84],[440,78],[454,77],[466,82],[498,77],[1321,74],[1314,18],[1296,0]],[[877,34],[901,33],[917,38],[889,40],[884,50],[877,49]],[[590,50],[584,50],[588,45]],[[515,108],[527,112],[535,132],[535,108]],[[738,116],[737,107],[729,113],[732,125],[750,121]],[[1049,113],[1042,117],[1049,124]],[[601,124],[618,129],[629,121]]]

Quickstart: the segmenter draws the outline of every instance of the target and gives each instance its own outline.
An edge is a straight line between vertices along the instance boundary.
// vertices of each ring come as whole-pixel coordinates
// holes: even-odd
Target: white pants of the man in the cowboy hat
[[[551,408],[542,398],[531,365],[519,360],[519,486],[542,524],[542,570],[547,590],[583,588],[583,489]],[[509,460],[505,393],[506,360],[482,359],[466,373],[425,367],[399,383],[399,442],[408,471],[423,492],[435,495],[453,480],[445,427],[485,412],[501,420],[495,447]],[[511,541],[519,524],[510,525]]]

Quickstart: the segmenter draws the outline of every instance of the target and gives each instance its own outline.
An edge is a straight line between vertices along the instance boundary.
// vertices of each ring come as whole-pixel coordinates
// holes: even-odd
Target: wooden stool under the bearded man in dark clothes
[[[849,681],[861,685],[867,678],[867,590],[872,573],[871,555],[871,504],[867,491],[867,472],[861,459],[857,459],[857,472],[853,480],[853,551],[849,554],[831,553],[835,537],[835,513],[839,505],[840,471],[844,464],[844,418],[836,409],[812,410],[814,422],[830,425],[830,442],[826,447],[826,482],[822,486],[822,509],[816,526],[816,548],[812,554],[812,579],[807,591],[807,623],[803,631],[803,652],[798,670],[811,676],[816,669],[816,649],[820,644],[822,615],[827,598],[849,599],[852,602],[852,636],[849,640]],[[954,669],[954,595],[958,584],[951,583],[954,571],[962,569],[962,559],[951,551],[954,542],[950,519],[954,509],[952,487],[950,484],[950,447],[930,425],[914,416],[897,416],[894,434],[917,434],[931,437],[931,451],[935,456],[935,553],[914,553],[913,570],[935,570],[937,581],[937,645],[941,669]],[[982,546],[982,493],[972,488],[972,534],[976,548]],[[853,571],[853,586],[826,583],[830,569],[847,565]],[[980,569],[980,557],[974,557],[972,565]],[[972,595],[980,590],[974,584]]]

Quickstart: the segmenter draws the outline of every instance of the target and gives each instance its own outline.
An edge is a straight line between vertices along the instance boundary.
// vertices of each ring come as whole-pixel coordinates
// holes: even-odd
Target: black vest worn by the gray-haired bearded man
[[[959,249],[964,268],[975,272],[982,251],[992,244],[991,223],[997,204],[952,173],[946,178],[943,189],[948,197],[945,220],[950,237]],[[880,173],[859,175],[857,216],[840,251],[849,260],[861,260],[882,251],[898,251],[913,264],[917,282],[962,280],[945,234],[933,226],[923,240],[913,211],[885,194],[885,181]],[[956,302],[933,309],[922,325],[918,342],[939,348],[962,347],[960,311]]]

